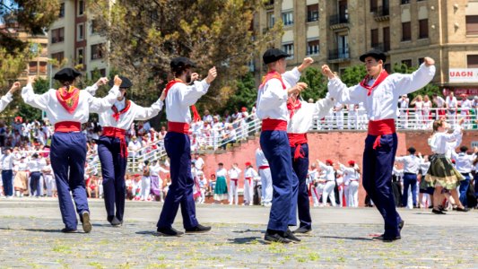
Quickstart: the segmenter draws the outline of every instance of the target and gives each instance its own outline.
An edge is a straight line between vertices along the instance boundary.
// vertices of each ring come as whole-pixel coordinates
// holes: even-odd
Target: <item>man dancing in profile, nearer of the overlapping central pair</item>
[[[299,242],[289,230],[297,223],[296,203],[293,191],[299,185],[299,179],[292,169],[291,146],[287,137],[289,94],[298,93],[307,88],[299,82],[287,88],[282,80],[289,54],[277,48],[267,49],[263,60],[268,73],[257,93],[257,117],[262,120],[260,137],[261,149],[269,162],[273,178],[274,199],[265,231],[266,242]]]

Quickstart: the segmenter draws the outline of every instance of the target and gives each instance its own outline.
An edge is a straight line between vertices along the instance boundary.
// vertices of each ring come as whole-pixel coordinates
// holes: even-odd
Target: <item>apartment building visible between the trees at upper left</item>
[[[108,42],[88,17],[86,0],[64,0],[60,4],[58,20],[48,30],[48,55],[64,66],[76,67],[87,77],[93,72],[109,74],[104,58]],[[61,66],[61,67],[64,67]],[[60,66],[53,66],[53,74]]]

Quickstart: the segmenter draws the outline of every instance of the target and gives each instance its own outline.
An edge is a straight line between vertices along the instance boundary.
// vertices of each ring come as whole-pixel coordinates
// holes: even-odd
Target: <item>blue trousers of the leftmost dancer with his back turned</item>
[[[59,133],[51,138],[51,168],[55,173],[58,202],[65,228],[76,229],[78,220],[74,212],[90,212],[84,186],[84,163],[86,161],[86,137],[80,132]],[[73,194],[74,204],[72,202]]]

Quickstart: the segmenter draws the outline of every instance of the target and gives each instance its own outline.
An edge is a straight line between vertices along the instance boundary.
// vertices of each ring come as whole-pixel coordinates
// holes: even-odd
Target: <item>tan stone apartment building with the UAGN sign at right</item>
[[[387,70],[402,63],[418,66],[431,56],[438,67],[434,83],[478,95],[477,0],[270,0],[255,19],[258,34],[283,22],[283,35],[271,46],[293,55],[291,66],[312,56],[317,66],[340,72],[380,48],[387,53]]]

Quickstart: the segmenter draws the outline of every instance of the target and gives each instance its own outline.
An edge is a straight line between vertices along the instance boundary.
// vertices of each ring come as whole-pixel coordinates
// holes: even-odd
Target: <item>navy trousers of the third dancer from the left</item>
[[[183,226],[191,229],[197,226],[196,204],[193,197],[194,179],[191,174],[191,143],[187,134],[168,132],[164,137],[164,148],[170,159],[171,185],[162,205],[158,228],[171,228],[179,204]]]

